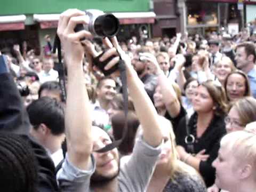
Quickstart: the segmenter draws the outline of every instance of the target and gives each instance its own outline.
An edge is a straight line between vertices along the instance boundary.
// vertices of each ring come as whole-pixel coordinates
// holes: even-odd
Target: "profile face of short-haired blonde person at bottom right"
[[[224,190],[236,191],[234,189],[238,178],[237,165],[237,160],[228,146],[221,146],[218,157],[212,163],[216,169],[215,185]]]

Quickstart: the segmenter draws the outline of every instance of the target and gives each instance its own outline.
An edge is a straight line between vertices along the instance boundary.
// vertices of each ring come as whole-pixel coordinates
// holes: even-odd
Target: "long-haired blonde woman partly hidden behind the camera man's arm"
[[[164,135],[164,146],[157,161],[147,192],[203,192],[206,187],[203,179],[193,167],[181,162],[175,149],[175,135],[170,121],[159,116]]]

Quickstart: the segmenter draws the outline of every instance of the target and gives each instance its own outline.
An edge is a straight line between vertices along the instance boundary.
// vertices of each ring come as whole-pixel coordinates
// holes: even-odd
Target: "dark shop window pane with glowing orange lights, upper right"
[[[218,25],[218,3],[187,3],[187,25]]]

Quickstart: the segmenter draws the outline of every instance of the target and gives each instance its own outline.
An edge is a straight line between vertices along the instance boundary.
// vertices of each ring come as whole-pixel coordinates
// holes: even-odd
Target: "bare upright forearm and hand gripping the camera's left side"
[[[79,10],[67,10],[60,15],[58,35],[60,37],[68,70],[67,103],[65,111],[65,129],[69,162],[82,170],[91,163],[92,135],[90,103],[84,86],[83,57],[84,48],[81,38],[90,38],[86,31],[74,32],[78,23],[86,24],[85,13]]]

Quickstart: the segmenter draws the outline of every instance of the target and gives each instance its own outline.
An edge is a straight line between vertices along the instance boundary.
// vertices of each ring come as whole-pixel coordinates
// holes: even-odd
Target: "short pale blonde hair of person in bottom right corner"
[[[228,147],[238,162],[250,164],[256,179],[256,134],[250,130],[235,131],[225,135],[221,147]]]

